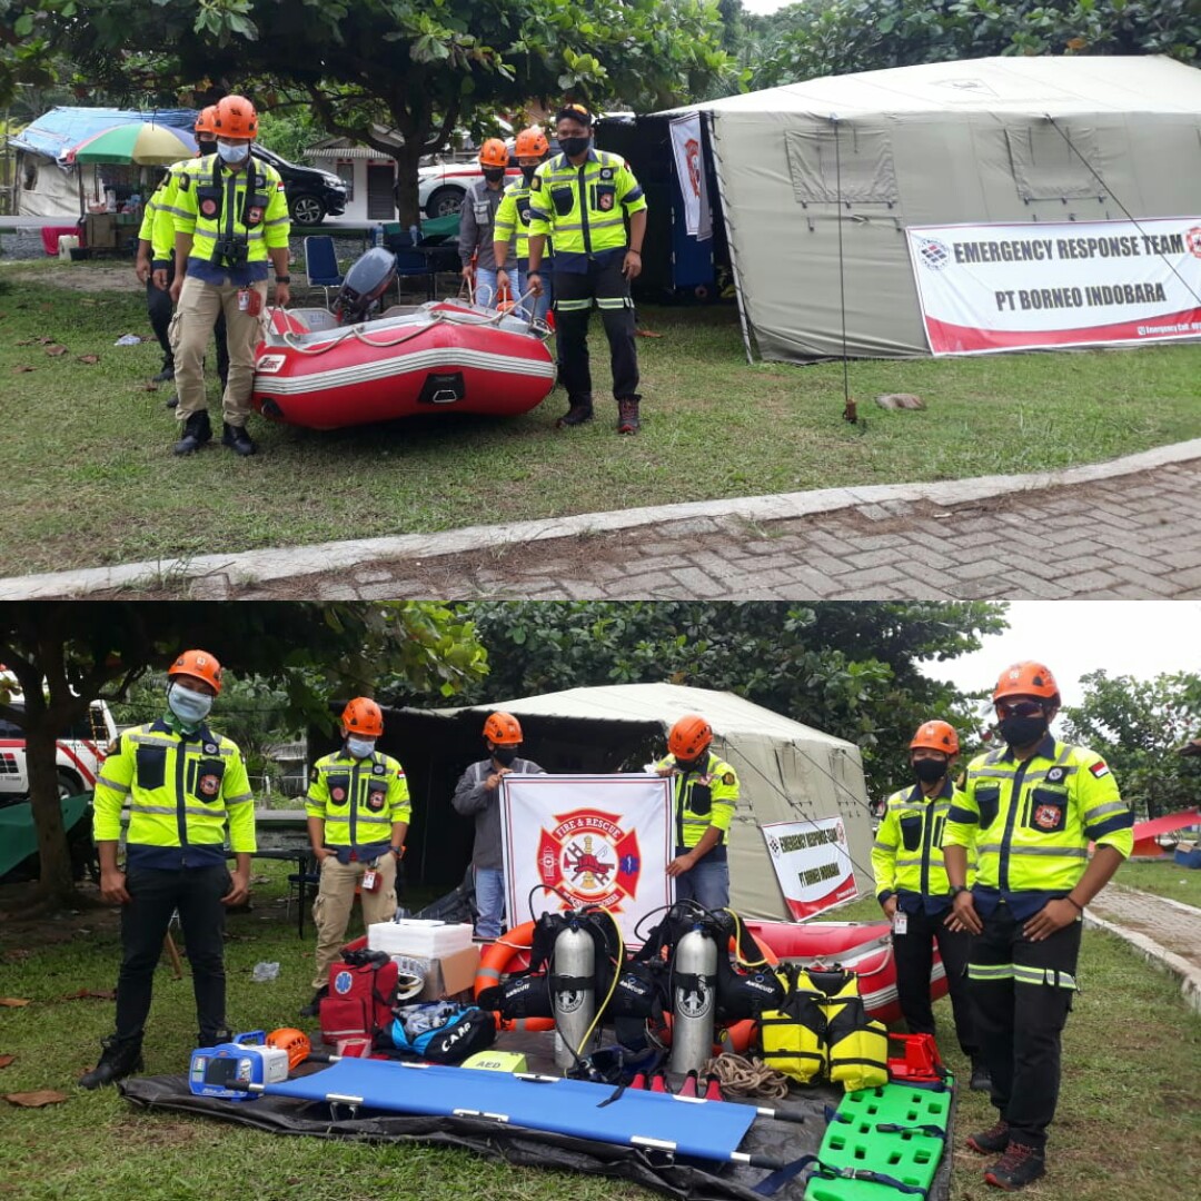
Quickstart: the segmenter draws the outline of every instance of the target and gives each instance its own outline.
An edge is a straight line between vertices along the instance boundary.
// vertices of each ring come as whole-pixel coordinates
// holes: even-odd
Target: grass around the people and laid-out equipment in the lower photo
[[[229,920],[229,1014],[241,1027],[291,1026],[307,999],[311,927],[301,943],[294,918],[285,920],[286,871],[286,865],[269,864],[261,872],[256,864],[263,882],[255,885],[255,908]],[[17,1057],[0,1069],[0,1092],[56,1088],[70,1099],[42,1110],[5,1106],[0,1155],[5,1196],[13,1201],[243,1195],[258,1201],[628,1201],[652,1195],[625,1182],[500,1167],[466,1152],[271,1137],[136,1111],[113,1089],[77,1091],[72,1081],[94,1063],[98,1039],[110,1029],[113,1006],[65,998],[80,988],[112,988],[119,954],[113,914],[88,912],[34,925],[19,919],[19,906],[17,886],[0,891],[0,909],[7,910],[0,925],[0,993],[32,1002],[0,1009],[0,1054]],[[868,900],[832,916],[866,920],[878,913]],[[280,962],[276,981],[251,981],[259,960]],[[1051,1173],[1026,1195],[1036,1201],[1183,1196],[1187,1182],[1201,1178],[1201,1022],[1185,1010],[1175,982],[1104,933],[1086,931],[1081,978],[1083,991],[1064,1039]],[[945,1000],[937,1012],[949,1033]],[[186,974],[172,980],[163,966],[155,986],[147,1071],[181,1071],[193,1032]],[[954,1069],[963,1068],[954,1046],[948,1058]],[[963,1093],[956,1148],[967,1133],[991,1121],[987,1103]],[[954,1154],[954,1201],[997,1195],[981,1183],[978,1157],[961,1149]]]

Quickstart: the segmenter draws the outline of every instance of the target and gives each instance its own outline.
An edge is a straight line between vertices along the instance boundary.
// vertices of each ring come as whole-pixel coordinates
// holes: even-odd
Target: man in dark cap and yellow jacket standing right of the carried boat
[[[568,410],[560,426],[592,420],[588,316],[600,310],[617,401],[617,432],[637,434],[638,352],[629,285],[643,269],[646,197],[621,155],[591,149],[592,114],[567,104],[555,118],[562,154],[544,162],[530,184],[528,287],[542,294],[546,239],[555,245],[555,333]],[[629,238],[626,221],[629,220]]]

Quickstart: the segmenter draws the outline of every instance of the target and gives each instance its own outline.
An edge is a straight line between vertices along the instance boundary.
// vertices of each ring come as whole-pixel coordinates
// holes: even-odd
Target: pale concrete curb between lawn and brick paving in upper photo
[[[249,550],[233,555],[201,555],[195,558],[163,558],[116,567],[48,572],[0,579],[0,600],[32,600],[50,596],[74,597],[107,588],[135,585],[154,587],[160,581],[179,582],[215,575],[225,575],[232,584],[265,582],[298,575],[315,575],[380,560],[438,558],[443,555],[477,551],[488,546],[556,540],[701,518],[781,521],[886,502],[930,501],[943,506],[963,504],[1012,492],[1092,484],[1194,459],[1201,459],[1201,438],[1157,447],[1110,462],[1086,464],[1028,476],[981,476],[950,483],[871,484],[862,488],[830,488],[811,492],[693,501],[683,504],[584,513],[534,521],[512,521],[504,525],[467,526],[434,534],[364,538],[310,546]]]

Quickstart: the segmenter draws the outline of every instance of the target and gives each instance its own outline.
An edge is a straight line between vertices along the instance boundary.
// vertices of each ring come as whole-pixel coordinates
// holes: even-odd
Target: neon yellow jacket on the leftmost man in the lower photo
[[[129,801],[130,861],[151,867],[225,862],[226,825],[235,852],[255,852],[255,797],[241,752],[202,725],[177,734],[165,721],[126,730],[96,779],[97,841],[121,835]],[[149,848],[154,853],[144,854]]]

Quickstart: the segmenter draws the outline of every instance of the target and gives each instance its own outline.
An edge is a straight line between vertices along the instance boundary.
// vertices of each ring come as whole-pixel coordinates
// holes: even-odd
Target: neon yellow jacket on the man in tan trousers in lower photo
[[[392,842],[394,821],[408,821],[412,806],[405,769],[381,752],[355,759],[336,751],[313,765],[305,813],[325,823],[327,847],[378,854]]]

